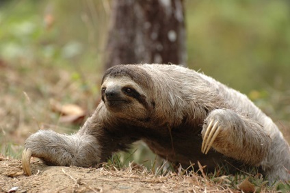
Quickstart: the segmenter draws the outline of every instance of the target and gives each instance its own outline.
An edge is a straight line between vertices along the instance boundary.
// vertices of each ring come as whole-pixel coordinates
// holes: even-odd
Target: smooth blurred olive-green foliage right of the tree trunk
[[[250,92],[290,88],[289,1],[187,1],[189,66]]]

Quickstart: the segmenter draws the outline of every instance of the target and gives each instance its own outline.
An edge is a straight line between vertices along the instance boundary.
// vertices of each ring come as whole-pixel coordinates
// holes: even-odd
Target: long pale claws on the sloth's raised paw
[[[211,149],[211,145],[213,144],[215,138],[220,133],[221,127],[218,126],[218,121],[215,122],[215,124],[211,127],[213,121],[209,123],[209,126],[207,127],[207,131],[205,132],[205,138],[202,141],[202,148],[201,152],[207,154],[209,152],[209,149]]]

